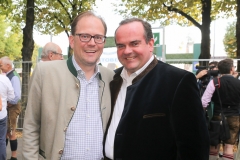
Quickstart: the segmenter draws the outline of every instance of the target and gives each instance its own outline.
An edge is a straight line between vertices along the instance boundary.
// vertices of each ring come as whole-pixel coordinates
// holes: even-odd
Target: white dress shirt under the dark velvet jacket
[[[116,104],[114,106],[114,111],[113,111],[113,116],[112,116],[112,120],[108,129],[108,133],[107,133],[107,138],[106,138],[106,142],[105,142],[105,153],[106,156],[110,159],[113,159],[113,152],[114,152],[114,139],[115,139],[115,133],[119,124],[119,121],[121,119],[122,116],[122,112],[123,112],[123,108],[124,108],[124,104],[125,104],[125,98],[126,98],[126,91],[127,91],[127,87],[132,85],[132,80],[137,77],[143,70],[145,70],[147,68],[147,66],[153,61],[154,56],[152,55],[152,57],[148,60],[148,62],[139,70],[137,70],[136,72],[132,73],[130,76],[128,76],[127,71],[125,68],[123,68],[122,73],[121,73],[121,77],[123,79],[123,83],[121,86],[121,89],[119,91],[117,100],[116,100]]]

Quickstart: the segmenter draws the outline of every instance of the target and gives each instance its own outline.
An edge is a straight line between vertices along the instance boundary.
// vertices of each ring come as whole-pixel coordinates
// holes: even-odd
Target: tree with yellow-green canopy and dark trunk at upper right
[[[150,21],[159,20],[161,25],[195,25],[202,34],[199,59],[210,59],[210,24],[219,13],[225,17],[233,16],[236,2],[233,0],[122,0],[116,11],[122,15],[141,16]],[[208,62],[200,62],[206,66]]]

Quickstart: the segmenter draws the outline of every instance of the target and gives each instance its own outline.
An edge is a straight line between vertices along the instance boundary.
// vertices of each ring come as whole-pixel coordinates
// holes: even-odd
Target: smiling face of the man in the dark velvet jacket
[[[141,22],[121,25],[116,31],[118,59],[129,75],[142,68],[152,56],[154,39],[146,43],[144,35]]]

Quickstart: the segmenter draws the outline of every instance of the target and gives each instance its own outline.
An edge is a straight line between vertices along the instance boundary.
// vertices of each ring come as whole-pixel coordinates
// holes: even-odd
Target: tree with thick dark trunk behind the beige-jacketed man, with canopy
[[[69,36],[70,24],[74,17],[80,12],[92,9],[92,5],[95,5],[95,0],[3,0],[0,3],[0,15],[6,15],[12,28],[21,29],[24,27],[22,46],[23,108],[27,103],[28,80],[32,66],[33,26],[34,29],[43,34],[58,34],[64,31]]]

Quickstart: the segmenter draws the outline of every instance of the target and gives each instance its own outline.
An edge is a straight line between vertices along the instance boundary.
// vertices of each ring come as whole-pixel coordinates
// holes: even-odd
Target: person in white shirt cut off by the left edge
[[[10,80],[0,75],[0,159],[6,160],[7,101],[14,99],[14,90]]]

